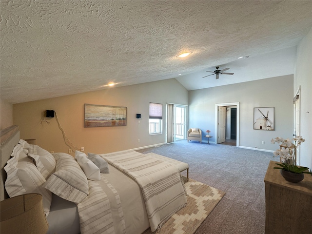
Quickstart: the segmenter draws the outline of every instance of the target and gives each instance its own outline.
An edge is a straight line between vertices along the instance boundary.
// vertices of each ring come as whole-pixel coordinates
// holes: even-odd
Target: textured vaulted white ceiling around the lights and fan
[[[111,81],[194,90],[292,74],[312,1],[1,0],[0,20],[1,99],[20,103]],[[234,75],[202,78],[215,66]]]

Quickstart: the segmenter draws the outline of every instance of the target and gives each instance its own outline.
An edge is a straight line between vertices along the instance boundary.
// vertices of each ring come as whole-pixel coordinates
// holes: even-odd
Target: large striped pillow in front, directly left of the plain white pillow
[[[44,187],[63,199],[81,202],[89,194],[87,177],[74,157],[65,153],[54,154],[54,157],[57,161],[56,170]]]

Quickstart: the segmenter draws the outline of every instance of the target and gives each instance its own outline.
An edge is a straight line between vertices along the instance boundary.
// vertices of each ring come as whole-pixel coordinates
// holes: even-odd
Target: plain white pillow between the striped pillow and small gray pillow
[[[86,156],[86,154],[76,150],[75,158],[88,179],[95,181],[101,179],[99,168]]]

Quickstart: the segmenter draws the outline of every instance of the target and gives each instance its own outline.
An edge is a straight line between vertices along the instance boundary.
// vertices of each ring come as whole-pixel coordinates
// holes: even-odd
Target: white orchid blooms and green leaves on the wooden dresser
[[[275,137],[271,140],[271,143],[274,144],[275,142],[282,143],[283,149],[278,149],[273,152],[274,156],[280,156],[282,159],[282,164],[276,163],[276,165],[279,165],[280,167],[274,167],[274,169],[281,169],[284,171],[292,172],[292,173],[306,173],[306,174],[312,174],[311,172],[307,171],[309,170],[308,167],[298,167],[296,166],[296,152],[297,147],[304,142],[305,139],[303,139],[300,136],[294,136],[292,139],[284,139],[282,137]],[[292,145],[293,142],[293,145]]]

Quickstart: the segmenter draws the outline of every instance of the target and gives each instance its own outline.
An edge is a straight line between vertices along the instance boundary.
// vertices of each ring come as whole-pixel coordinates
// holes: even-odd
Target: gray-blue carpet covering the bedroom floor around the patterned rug
[[[190,178],[226,192],[195,234],[264,234],[263,179],[270,160],[279,161],[272,153],[186,140],[137,151],[186,162]]]

